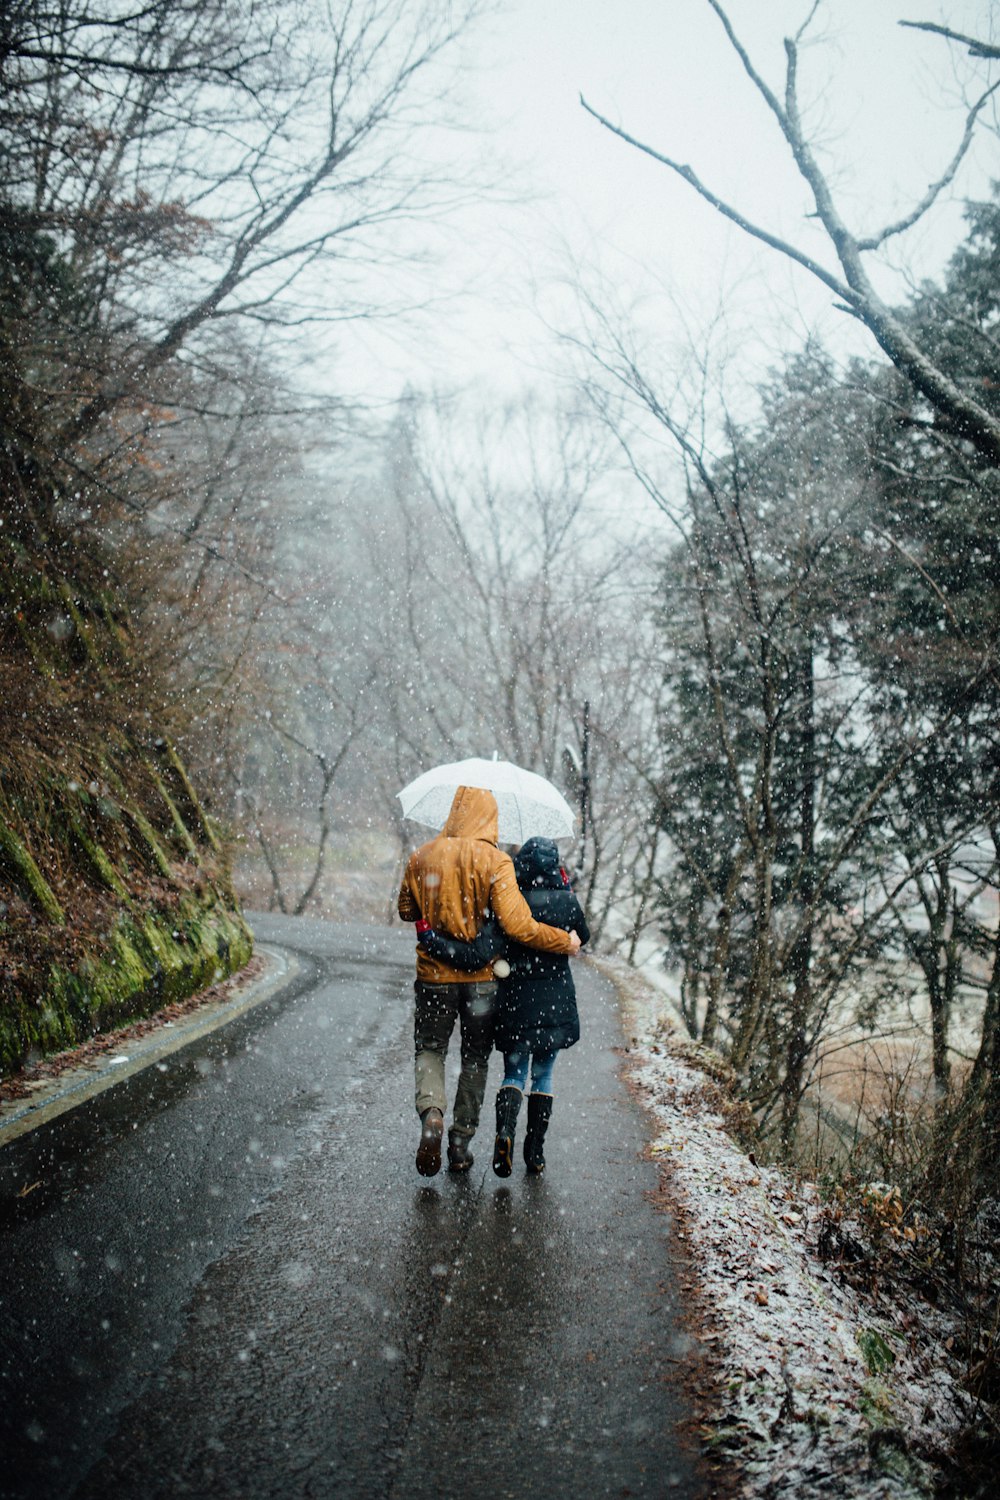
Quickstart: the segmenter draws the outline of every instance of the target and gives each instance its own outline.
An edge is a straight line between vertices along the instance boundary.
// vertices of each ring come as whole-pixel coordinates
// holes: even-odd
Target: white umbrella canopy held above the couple
[[[453,760],[424,771],[397,792],[403,818],[427,828],[444,828],[460,786],[483,786],[496,798],[501,843],[526,838],[571,838],[573,808],[544,776],[523,771],[511,760]]]

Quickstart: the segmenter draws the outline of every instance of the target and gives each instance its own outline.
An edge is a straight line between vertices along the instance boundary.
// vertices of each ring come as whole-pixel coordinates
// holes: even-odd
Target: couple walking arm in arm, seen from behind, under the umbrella
[[[508,1178],[514,1131],[531,1072],[525,1162],[544,1168],[543,1143],[552,1116],[552,1070],[562,1047],[580,1035],[570,956],[589,932],[549,838],[529,838],[516,858],[496,848],[496,798],[475,786],[454,794],[444,830],[411,855],[399,892],[399,915],[417,922],[414,1048],[417,1172],[441,1170],[444,1065],[456,1020],[462,1072],[448,1131],[448,1168],[468,1172],[469,1142],[480,1122],[493,1042],[504,1053],[496,1095],[493,1170]],[[508,972],[496,982],[490,958]]]

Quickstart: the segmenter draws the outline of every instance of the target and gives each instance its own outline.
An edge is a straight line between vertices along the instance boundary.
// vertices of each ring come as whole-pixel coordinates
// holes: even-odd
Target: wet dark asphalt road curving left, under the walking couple
[[[546,1174],[484,1119],[424,1180],[412,934],[255,927],[280,994],[0,1150],[0,1496],[709,1494],[612,987],[576,966]]]

